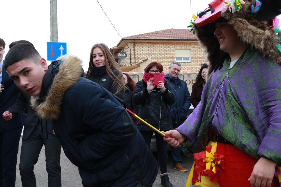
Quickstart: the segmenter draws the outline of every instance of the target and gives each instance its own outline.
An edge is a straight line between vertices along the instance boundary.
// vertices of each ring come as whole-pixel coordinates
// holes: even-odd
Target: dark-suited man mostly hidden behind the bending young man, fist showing
[[[29,41],[14,41],[9,47],[19,44],[29,43]],[[24,130],[22,136],[21,157],[19,170],[21,173],[22,187],[36,187],[36,178],[34,175],[34,165],[37,163],[42,146],[46,152],[46,170],[48,173],[48,186],[62,186],[61,180],[61,143],[53,134],[52,123],[49,120],[40,119],[35,111],[29,106],[31,96],[20,90],[17,101],[8,108],[2,115],[6,121],[12,119],[12,116],[27,108],[24,121]]]

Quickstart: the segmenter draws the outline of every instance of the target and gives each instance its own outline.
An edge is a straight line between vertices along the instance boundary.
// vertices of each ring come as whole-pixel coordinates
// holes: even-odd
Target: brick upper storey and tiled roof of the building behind
[[[125,59],[118,59],[119,51],[126,52]],[[187,29],[166,29],[122,38],[117,46],[111,48],[118,64],[135,66],[148,58],[168,66],[178,61],[183,66],[199,66],[205,63],[205,50],[196,36]]]

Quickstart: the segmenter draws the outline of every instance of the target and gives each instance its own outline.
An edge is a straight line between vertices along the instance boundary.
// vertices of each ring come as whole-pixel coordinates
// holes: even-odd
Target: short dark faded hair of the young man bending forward
[[[13,65],[24,59],[39,59],[41,56],[33,45],[28,43],[19,43],[9,50],[5,57],[4,67]]]

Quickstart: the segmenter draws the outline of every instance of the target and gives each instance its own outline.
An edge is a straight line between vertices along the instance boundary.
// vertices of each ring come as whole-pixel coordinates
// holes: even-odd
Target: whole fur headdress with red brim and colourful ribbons
[[[220,50],[219,42],[214,36],[214,23],[219,18],[232,25],[243,41],[281,64],[279,20],[256,20],[255,15],[260,7],[262,3],[259,0],[214,0],[209,3],[208,8],[193,16],[195,20],[188,27],[191,27],[191,31],[205,46],[210,70],[227,55]]]

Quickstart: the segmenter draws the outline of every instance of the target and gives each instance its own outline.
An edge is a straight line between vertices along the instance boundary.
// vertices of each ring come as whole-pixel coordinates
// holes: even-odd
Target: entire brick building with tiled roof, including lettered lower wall
[[[118,59],[117,54],[122,50],[127,57]],[[166,29],[128,36],[112,47],[111,52],[122,71],[128,72],[135,81],[142,79],[143,70],[150,62],[160,62],[164,73],[169,72],[172,61],[180,62],[179,78],[185,81],[190,93],[199,65],[206,63],[205,49],[188,29]]]

